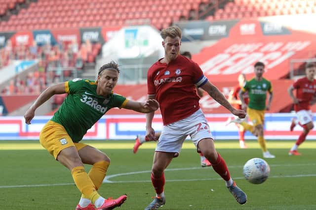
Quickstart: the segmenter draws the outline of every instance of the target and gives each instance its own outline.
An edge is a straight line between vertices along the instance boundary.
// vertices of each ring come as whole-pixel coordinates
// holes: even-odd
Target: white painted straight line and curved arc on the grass
[[[293,166],[315,166],[316,163],[312,164],[274,164],[270,165],[271,167],[293,167]],[[242,168],[242,166],[229,166],[229,168]],[[186,171],[186,170],[205,170],[207,169],[202,167],[192,167],[192,168],[175,168],[175,169],[166,169],[165,171]],[[129,172],[129,173],[121,173],[107,176],[103,183],[135,183],[135,182],[151,182],[151,180],[133,180],[133,181],[110,181],[110,178],[125,176],[125,175],[133,175],[133,174],[143,174],[143,173],[151,173],[151,171],[137,171],[137,172]],[[316,177],[316,174],[305,174],[305,175],[283,175],[283,176],[269,176],[271,178],[300,178],[300,177]],[[234,180],[242,180],[244,177],[235,177]],[[186,179],[186,180],[167,180],[171,181],[204,181],[204,180],[222,180],[222,178],[207,178],[207,179]],[[19,187],[46,187],[46,186],[63,186],[63,185],[74,185],[75,183],[58,183],[58,184],[30,184],[30,185],[7,185],[0,186],[1,188],[19,188]]]

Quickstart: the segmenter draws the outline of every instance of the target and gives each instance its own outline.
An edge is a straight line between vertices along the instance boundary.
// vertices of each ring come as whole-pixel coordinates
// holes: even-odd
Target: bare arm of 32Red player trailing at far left
[[[31,120],[35,116],[35,110],[45,103],[51,96],[55,94],[63,94],[66,93],[65,90],[65,83],[59,83],[53,86],[48,87],[46,90],[44,90],[42,93],[40,93],[40,96],[36,99],[34,104],[26,111],[24,115],[25,123],[31,124]]]

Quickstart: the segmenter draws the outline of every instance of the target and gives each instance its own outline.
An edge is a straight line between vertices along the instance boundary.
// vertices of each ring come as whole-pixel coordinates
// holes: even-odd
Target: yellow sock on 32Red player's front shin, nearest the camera
[[[95,186],[88,174],[84,171],[83,166],[77,166],[73,168],[71,174],[80,192],[86,195],[87,198],[94,204],[95,200],[101,196],[95,189]]]

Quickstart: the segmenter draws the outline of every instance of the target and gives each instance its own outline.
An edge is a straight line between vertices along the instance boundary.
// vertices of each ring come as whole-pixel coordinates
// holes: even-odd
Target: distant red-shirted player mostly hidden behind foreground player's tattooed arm
[[[241,89],[241,87],[244,86],[244,83],[246,81],[246,76],[245,74],[239,74],[238,76],[238,86],[234,87],[233,90],[231,90],[231,92],[229,93],[228,96],[228,101],[233,105],[233,107],[235,107],[236,109],[242,109],[241,108],[241,101],[239,98],[239,91]],[[245,103],[248,104],[248,92],[244,92],[243,93],[243,98],[245,100]],[[232,120],[232,118],[229,118],[227,120],[227,123],[230,123]],[[238,134],[239,134],[239,146],[240,148],[247,148],[247,145],[245,144],[245,129],[241,124],[236,123],[236,126],[238,127]]]

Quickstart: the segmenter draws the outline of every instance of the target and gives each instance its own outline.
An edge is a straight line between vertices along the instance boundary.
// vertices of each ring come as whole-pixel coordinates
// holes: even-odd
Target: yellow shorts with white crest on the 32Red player
[[[49,120],[40,131],[40,144],[57,159],[61,150],[75,146],[80,150],[87,146],[82,143],[75,143],[68,135],[64,126]]]

